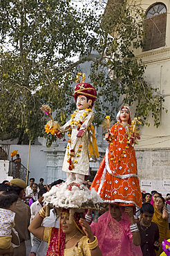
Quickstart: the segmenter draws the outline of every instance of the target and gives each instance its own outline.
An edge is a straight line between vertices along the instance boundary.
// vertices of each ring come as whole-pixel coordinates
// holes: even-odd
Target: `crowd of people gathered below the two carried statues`
[[[86,214],[75,212],[74,223],[69,223],[66,209],[51,209],[46,217],[43,201],[44,193],[64,181],[43,183],[42,178],[39,184],[30,178],[28,186],[21,179],[1,183],[0,212],[4,218],[0,218],[0,255],[26,256],[28,230],[30,256],[163,255],[162,241],[170,238],[170,194],[164,198],[157,191],[142,193],[139,214],[138,209],[135,214],[133,206],[104,203],[97,222],[92,221],[93,212],[88,210]],[[94,237],[97,242],[91,249]]]

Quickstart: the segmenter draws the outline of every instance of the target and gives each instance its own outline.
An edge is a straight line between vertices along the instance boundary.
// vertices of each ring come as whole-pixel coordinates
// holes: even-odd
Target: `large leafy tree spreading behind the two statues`
[[[115,118],[123,95],[124,103],[137,102],[138,116],[146,120],[151,111],[159,125],[162,97],[144,81],[145,67],[133,53],[142,46],[142,10],[126,1],[108,1],[101,14],[97,8],[102,2],[97,2],[93,0],[94,8],[84,3],[81,9],[70,0],[0,2],[1,139],[19,138],[23,143],[43,136],[41,104],[49,104],[55,120],[64,123],[75,109],[70,101],[75,75],[86,61],[103,99],[95,103],[97,124],[106,114]]]

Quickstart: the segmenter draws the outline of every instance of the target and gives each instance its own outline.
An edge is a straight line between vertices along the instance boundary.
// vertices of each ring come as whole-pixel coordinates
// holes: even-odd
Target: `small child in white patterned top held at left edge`
[[[19,246],[19,240],[12,228],[15,226],[15,204],[18,195],[12,191],[1,192],[0,194],[0,248],[9,249],[11,243]],[[12,253],[12,247],[10,248]],[[5,254],[10,255],[10,254]]]

